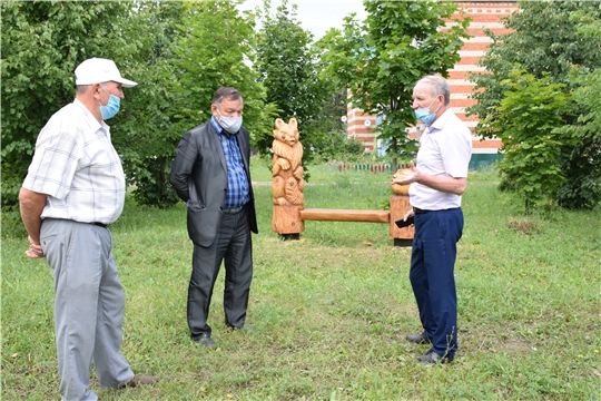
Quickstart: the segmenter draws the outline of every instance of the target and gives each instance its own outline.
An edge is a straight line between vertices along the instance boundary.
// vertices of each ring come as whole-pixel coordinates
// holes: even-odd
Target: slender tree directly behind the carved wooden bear
[[[296,6],[288,8],[284,0],[272,14],[270,1],[265,0],[262,16],[255,67],[267,89],[267,101],[277,105],[277,117],[298,120],[306,163],[312,156],[308,150],[319,148],[324,140],[322,111],[334,89],[319,80],[321,60],[311,47],[313,35],[296,20]],[[269,135],[258,138],[257,145],[265,150],[272,141]]]

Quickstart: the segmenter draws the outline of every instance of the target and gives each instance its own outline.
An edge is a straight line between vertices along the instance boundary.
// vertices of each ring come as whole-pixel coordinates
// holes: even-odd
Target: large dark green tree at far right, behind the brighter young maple
[[[477,115],[481,120],[476,134],[484,138],[497,135],[496,129],[506,118],[501,109],[502,102],[515,95],[515,85],[509,82],[520,82],[523,77],[531,75],[549,85],[563,84],[565,96],[572,100],[570,107],[558,111],[561,113],[560,118],[553,118],[553,126],[549,126],[544,119],[534,120],[539,118],[536,114],[526,110],[511,118],[515,125],[526,126],[538,121],[539,126],[546,126],[546,130],[524,133],[532,136],[528,138],[530,141],[542,140],[550,135],[554,137],[560,153],[555,167],[562,183],[553,194],[549,194],[549,198],[568,208],[594,207],[601,200],[601,140],[599,130],[595,131],[599,123],[594,117],[599,110],[598,96],[591,89],[599,88],[595,87],[599,85],[595,77],[601,65],[601,9],[598,3],[588,1],[524,1],[520,2],[520,9],[521,12],[505,21],[505,27],[514,32],[503,36],[486,32],[493,38],[493,43],[480,63],[487,72],[470,78],[476,84],[473,98],[477,104],[469,113]],[[522,74],[516,75],[515,71]],[[532,81],[532,85],[540,86],[540,82]],[[524,97],[523,102],[531,110],[546,107],[541,97]],[[503,145],[505,159],[502,165],[510,160],[515,163],[528,155],[511,141]],[[508,158],[513,151],[520,151],[521,156]],[[520,174],[504,175],[503,186],[515,188],[514,183]],[[525,200],[535,199],[526,197]]]

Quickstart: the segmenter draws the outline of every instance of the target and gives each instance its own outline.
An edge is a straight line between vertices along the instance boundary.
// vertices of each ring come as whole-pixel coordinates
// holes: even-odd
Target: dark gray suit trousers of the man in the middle
[[[253,244],[247,213],[247,207],[244,207],[236,214],[224,214],[213,244],[194,244],[193,272],[188,286],[188,325],[194,340],[205,333],[210,335],[210,326],[207,324],[210,299],[224,260],[226,324],[231,327],[244,325],[253,280]]]

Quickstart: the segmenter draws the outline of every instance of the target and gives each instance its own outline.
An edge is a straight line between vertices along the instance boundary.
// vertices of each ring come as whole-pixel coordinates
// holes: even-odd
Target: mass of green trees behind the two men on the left
[[[140,205],[173,206],[168,183],[181,135],[209,117],[224,85],[245,98],[245,126],[272,130],[275,106],[247,66],[254,17],[223,2],[97,1],[1,3],[2,207],[17,196],[36,137],[75,97],[75,68],[85,59],[115,60],[139,85],[126,89],[109,121],[115,148]],[[7,85],[6,82],[10,82]]]

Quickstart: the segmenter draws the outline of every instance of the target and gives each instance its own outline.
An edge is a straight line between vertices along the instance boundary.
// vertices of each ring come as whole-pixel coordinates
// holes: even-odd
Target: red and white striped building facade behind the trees
[[[490,29],[495,35],[509,33],[501,18],[508,17],[518,11],[515,1],[457,1],[460,11],[465,11],[472,20],[467,33],[472,38],[465,40],[460,50],[461,60],[449,71],[449,85],[451,86],[451,107],[453,111],[473,130],[477,125],[477,117],[466,117],[465,109],[475,104],[470,99],[474,90],[474,84],[467,81],[470,72],[483,71],[484,68],[477,66],[477,60],[484,56],[486,47],[492,43],[492,39],[484,31]],[[456,14],[460,17],[459,14]],[[451,27],[453,22],[447,22]],[[347,105],[347,135],[365,145],[365,149],[374,150],[377,147],[376,138],[376,117],[364,115],[362,109],[354,108],[352,104]],[[422,126],[421,129],[424,127]],[[416,128],[410,128],[410,136],[415,138]],[[496,155],[501,147],[501,140],[481,140],[473,136],[473,153]]]

